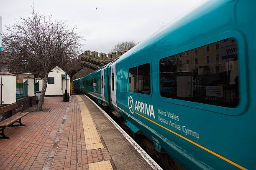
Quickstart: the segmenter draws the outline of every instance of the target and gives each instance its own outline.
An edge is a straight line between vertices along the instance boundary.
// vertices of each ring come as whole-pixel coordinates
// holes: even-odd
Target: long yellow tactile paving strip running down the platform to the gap
[[[88,108],[86,107],[84,101],[79,95],[76,95],[76,97],[81,110],[86,149],[91,150],[104,148]]]

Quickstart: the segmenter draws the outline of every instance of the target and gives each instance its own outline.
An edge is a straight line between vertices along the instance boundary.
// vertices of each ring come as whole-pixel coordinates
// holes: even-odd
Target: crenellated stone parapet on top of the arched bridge
[[[102,52],[100,52],[100,54],[99,54],[99,52],[97,52],[97,51],[86,50],[86,51],[84,51],[84,53],[80,54],[78,57],[88,56],[88,57],[93,57],[95,59],[100,59],[100,60],[113,60],[117,57],[120,57],[125,52],[127,52],[127,51],[126,50],[125,51],[120,51],[118,53],[110,52],[107,55],[106,53],[102,53]]]

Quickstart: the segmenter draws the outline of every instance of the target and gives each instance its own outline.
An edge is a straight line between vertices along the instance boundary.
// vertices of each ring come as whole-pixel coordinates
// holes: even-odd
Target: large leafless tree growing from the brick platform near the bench
[[[20,18],[13,26],[5,26],[3,36],[5,60],[12,67],[26,66],[26,70],[40,72],[44,84],[36,110],[42,110],[48,74],[56,66],[69,70],[81,50],[82,40],[76,27],[68,29],[65,21],[52,20],[32,7],[30,18]],[[76,62],[73,62],[76,63]]]

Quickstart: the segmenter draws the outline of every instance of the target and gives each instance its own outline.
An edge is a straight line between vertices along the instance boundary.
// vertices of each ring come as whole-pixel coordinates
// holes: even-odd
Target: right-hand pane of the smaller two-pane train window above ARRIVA
[[[138,93],[150,94],[150,64],[138,66]]]

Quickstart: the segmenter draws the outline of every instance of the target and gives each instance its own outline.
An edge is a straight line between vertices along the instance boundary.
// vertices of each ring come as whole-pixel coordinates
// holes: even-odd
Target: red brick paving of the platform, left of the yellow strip
[[[77,97],[72,96],[66,113],[68,107],[63,97],[45,97],[43,108],[52,108],[50,112],[29,113],[22,118],[25,127],[5,128],[10,139],[0,140],[0,169],[80,170],[89,169],[88,163],[99,162],[102,156],[111,160],[106,147],[86,150]]]

